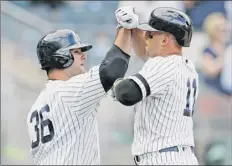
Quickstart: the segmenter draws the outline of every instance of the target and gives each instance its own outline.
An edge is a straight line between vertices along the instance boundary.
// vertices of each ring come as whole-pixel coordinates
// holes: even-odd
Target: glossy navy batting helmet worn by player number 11
[[[172,34],[182,47],[189,47],[192,39],[192,22],[187,14],[170,7],[159,7],[151,12],[149,21],[138,25],[144,31],[164,31]]]

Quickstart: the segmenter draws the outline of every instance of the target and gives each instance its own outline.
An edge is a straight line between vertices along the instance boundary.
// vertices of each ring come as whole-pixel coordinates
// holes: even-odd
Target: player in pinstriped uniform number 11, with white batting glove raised
[[[112,90],[123,105],[135,105],[135,163],[197,165],[192,116],[198,74],[182,54],[182,47],[191,43],[192,22],[179,10],[161,7],[152,11],[147,23],[136,25],[138,17],[129,8],[116,10],[117,20],[127,22],[123,28],[134,28],[134,50],[148,60],[137,74],[118,79]]]

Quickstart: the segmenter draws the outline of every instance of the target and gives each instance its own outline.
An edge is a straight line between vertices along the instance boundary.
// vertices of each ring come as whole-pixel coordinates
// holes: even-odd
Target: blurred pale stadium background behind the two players
[[[36,45],[41,36],[59,28],[76,31],[83,41],[94,45],[88,52],[86,68],[89,69],[101,62],[113,43],[114,11],[127,5],[134,5],[141,19],[146,19],[150,11],[159,6],[185,11],[193,20],[194,34],[192,46],[184,49],[184,54],[194,61],[199,74],[202,66],[215,68],[213,63],[206,65],[202,60],[204,48],[211,44],[203,28],[204,20],[212,13],[220,12],[231,27],[231,1],[1,1],[2,165],[33,164],[26,117],[46,82],[46,74],[40,71],[36,57]],[[218,29],[214,33],[219,33]],[[231,29],[227,36],[229,44]],[[231,49],[227,54],[232,54]],[[230,59],[225,67],[229,71],[227,82],[231,80],[231,63]],[[142,65],[139,59],[132,57],[127,75],[135,73]],[[200,164],[231,165],[231,88],[230,92],[222,91],[208,84],[205,77],[207,75],[200,77],[194,116],[196,154]],[[102,164],[133,165],[133,107],[124,107],[105,98],[100,103],[98,119]]]

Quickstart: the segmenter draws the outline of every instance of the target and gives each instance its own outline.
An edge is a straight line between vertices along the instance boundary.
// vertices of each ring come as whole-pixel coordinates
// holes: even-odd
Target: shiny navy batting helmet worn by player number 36
[[[78,35],[69,29],[48,33],[37,45],[37,56],[43,70],[64,69],[72,65],[74,58],[71,49],[79,48],[88,51],[92,45],[83,44]]]

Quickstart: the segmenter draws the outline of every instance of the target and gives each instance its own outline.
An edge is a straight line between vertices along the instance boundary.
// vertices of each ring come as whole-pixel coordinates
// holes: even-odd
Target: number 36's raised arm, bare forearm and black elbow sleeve
[[[118,78],[123,78],[128,68],[131,51],[131,30],[120,28],[114,45],[100,65],[100,79],[107,92]]]

